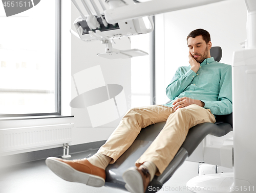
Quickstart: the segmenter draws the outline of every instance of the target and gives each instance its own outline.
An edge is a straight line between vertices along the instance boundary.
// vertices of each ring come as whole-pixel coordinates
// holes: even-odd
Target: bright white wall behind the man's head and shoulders
[[[188,66],[187,35],[198,28],[211,35],[212,46],[221,46],[221,62],[232,63],[233,51],[246,39],[244,0],[229,0],[156,16],[156,103],[168,101],[165,88],[179,66]]]

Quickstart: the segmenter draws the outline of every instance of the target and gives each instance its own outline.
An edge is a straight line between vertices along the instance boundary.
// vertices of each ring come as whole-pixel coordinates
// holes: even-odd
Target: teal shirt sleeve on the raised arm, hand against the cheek
[[[197,74],[191,69],[181,76],[181,68],[179,67],[172,81],[170,81],[170,84],[166,87],[167,97],[170,100],[174,100],[189,84],[191,84],[196,76]]]

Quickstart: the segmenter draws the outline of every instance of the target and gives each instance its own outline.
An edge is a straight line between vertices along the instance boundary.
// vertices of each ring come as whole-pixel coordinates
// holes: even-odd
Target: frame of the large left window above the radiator
[[[61,0],[55,0],[55,112],[0,114],[3,117],[36,117],[61,115]]]

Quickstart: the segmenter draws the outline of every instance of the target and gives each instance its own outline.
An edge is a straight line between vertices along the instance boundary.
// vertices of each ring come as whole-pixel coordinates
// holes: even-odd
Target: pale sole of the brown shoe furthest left
[[[105,184],[105,180],[99,176],[79,172],[69,164],[55,159],[46,159],[46,165],[58,177],[69,182],[83,183],[89,186],[101,187]]]

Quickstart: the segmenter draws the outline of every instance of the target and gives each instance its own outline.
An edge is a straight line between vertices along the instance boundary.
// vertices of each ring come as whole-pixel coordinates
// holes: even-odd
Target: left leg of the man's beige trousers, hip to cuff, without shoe
[[[119,126],[98,150],[114,163],[134,142],[142,128],[166,121],[174,110],[163,105],[133,108],[122,118]]]

